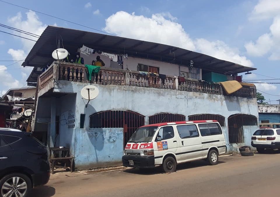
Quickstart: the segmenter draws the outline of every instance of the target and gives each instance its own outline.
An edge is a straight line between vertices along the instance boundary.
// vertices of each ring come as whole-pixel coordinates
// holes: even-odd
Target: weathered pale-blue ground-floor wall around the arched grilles
[[[57,113],[61,116],[57,146],[71,148],[71,154],[75,156],[75,165],[79,169],[110,166],[121,162],[122,128],[88,128],[89,116],[99,111],[131,110],[146,116],[146,123],[148,123],[148,116],[161,112],[182,114],[186,117],[193,114],[220,114],[225,116],[226,127],[223,127],[223,131],[228,152],[232,151],[234,146],[250,145],[251,134],[257,129],[257,126],[250,128],[246,126],[244,128],[245,142],[229,144],[227,118],[239,113],[252,114],[258,118],[256,99],[169,89],[95,84],[99,89],[99,96],[91,100],[85,108],[87,100],[81,97],[80,91],[86,85],[90,84],[59,81],[60,88],[54,90],[56,93],[68,93],[67,96],[57,99],[60,103],[57,104]],[[62,117],[69,110],[75,112],[75,128],[73,129],[62,125]],[[85,114],[85,128],[83,129],[80,128],[80,114]],[[114,149],[113,153],[112,149]]]

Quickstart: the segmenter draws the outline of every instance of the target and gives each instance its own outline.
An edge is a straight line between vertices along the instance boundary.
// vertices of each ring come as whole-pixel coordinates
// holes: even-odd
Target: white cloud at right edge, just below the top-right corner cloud
[[[261,35],[255,42],[250,41],[244,45],[249,55],[261,57],[268,53],[269,60],[280,60],[280,15],[274,17],[269,30],[269,33]]]

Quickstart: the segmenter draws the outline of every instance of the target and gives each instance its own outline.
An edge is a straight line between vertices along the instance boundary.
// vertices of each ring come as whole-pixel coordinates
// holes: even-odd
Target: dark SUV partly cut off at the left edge
[[[47,147],[31,133],[0,128],[0,197],[27,197],[49,178]]]

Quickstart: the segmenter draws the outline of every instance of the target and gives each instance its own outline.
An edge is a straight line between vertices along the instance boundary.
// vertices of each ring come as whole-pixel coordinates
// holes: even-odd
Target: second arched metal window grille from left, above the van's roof
[[[163,122],[176,122],[185,121],[186,116],[180,114],[160,113],[149,116],[149,124],[163,123]]]

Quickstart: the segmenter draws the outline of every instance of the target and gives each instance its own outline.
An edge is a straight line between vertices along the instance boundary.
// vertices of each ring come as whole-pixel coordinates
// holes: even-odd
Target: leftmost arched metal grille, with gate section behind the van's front
[[[123,128],[124,146],[135,132],[145,125],[145,116],[133,111],[101,111],[90,116],[90,128]]]

